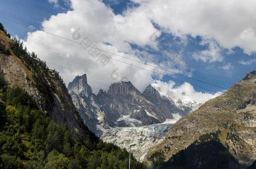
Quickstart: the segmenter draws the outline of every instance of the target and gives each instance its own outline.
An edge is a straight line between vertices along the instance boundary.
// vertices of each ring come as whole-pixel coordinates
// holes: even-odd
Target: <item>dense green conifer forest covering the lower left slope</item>
[[[6,98],[3,98],[6,97]],[[44,117],[30,96],[20,88],[9,88],[0,103],[0,166],[3,168],[125,169],[126,150],[100,140],[84,144],[64,124]],[[132,157],[133,168],[143,168]]]

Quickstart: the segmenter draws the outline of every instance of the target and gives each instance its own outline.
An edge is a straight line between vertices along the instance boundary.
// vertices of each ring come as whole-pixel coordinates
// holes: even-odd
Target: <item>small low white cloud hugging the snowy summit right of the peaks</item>
[[[190,83],[177,84],[173,81],[162,82],[157,81],[157,83],[153,83],[152,86],[157,88],[160,95],[168,96],[172,98],[172,100],[177,101],[196,101],[197,103],[204,103],[209,99],[215,98],[222,93],[219,91],[218,93],[203,93],[195,91],[193,86]]]

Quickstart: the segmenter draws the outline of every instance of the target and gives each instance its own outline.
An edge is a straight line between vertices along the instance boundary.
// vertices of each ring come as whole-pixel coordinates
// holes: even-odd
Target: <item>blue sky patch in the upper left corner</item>
[[[0,16],[15,20],[25,25],[41,27],[44,18],[63,12],[61,8],[54,8],[47,0],[2,0],[0,5]],[[11,35],[26,38],[27,30],[17,28],[9,21],[0,18],[1,22]]]

